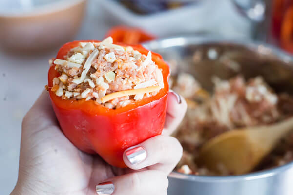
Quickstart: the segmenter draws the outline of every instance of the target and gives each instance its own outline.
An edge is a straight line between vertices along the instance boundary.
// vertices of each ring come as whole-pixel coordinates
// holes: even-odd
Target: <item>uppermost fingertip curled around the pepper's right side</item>
[[[187,109],[185,99],[173,90],[169,91],[167,114],[163,135],[171,135],[179,126]]]

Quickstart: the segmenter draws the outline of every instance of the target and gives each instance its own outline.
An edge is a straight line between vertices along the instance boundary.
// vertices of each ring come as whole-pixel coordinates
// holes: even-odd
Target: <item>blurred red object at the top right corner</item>
[[[293,0],[274,0],[272,5],[272,35],[293,54]]]

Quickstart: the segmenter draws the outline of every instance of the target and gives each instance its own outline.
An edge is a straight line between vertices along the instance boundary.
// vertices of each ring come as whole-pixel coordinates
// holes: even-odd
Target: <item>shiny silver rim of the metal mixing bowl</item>
[[[232,45],[244,46],[249,50],[256,50],[258,53],[263,55],[272,54],[284,62],[284,64],[293,67],[293,55],[289,54],[286,51],[283,51],[273,45],[268,43],[264,43],[261,41],[254,41],[249,39],[239,40],[239,39],[227,39],[221,38],[216,35],[196,35],[190,34],[185,36],[172,36],[157,40],[152,40],[148,42],[144,42],[143,46],[147,49],[155,50],[155,49],[164,49],[168,47],[174,46],[186,46],[192,44],[208,44],[208,43],[227,43]],[[243,181],[243,180],[255,180],[262,179],[266,177],[272,177],[280,172],[284,172],[288,169],[293,169],[293,162],[289,162],[285,165],[274,167],[271,169],[265,169],[257,172],[252,172],[245,175],[239,176],[197,176],[197,175],[187,175],[182,174],[176,171],[173,171],[169,174],[168,177],[189,180],[189,181],[197,181],[197,182],[234,182],[234,181]]]

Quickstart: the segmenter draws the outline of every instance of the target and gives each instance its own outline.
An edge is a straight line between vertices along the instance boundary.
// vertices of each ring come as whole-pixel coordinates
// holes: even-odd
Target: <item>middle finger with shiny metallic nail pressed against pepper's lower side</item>
[[[174,137],[156,136],[134,147],[123,154],[125,164],[134,170],[148,167],[160,170],[168,175],[182,156],[182,146]]]

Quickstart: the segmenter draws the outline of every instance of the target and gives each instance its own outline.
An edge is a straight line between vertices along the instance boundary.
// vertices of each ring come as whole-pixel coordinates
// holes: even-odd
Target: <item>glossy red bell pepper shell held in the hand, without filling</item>
[[[64,59],[64,55],[78,46],[79,42],[99,41],[66,43],[56,59]],[[148,53],[140,45],[131,46],[142,54]],[[48,86],[52,106],[64,135],[77,148],[90,154],[97,153],[113,166],[126,167],[122,156],[127,148],[162,133],[167,110],[169,67],[159,54],[152,53],[152,59],[162,69],[165,87],[156,96],[116,110],[97,105],[93,100],[64,100],[56,96],[50,87],[59,73],[54,65],[50,67]]]

